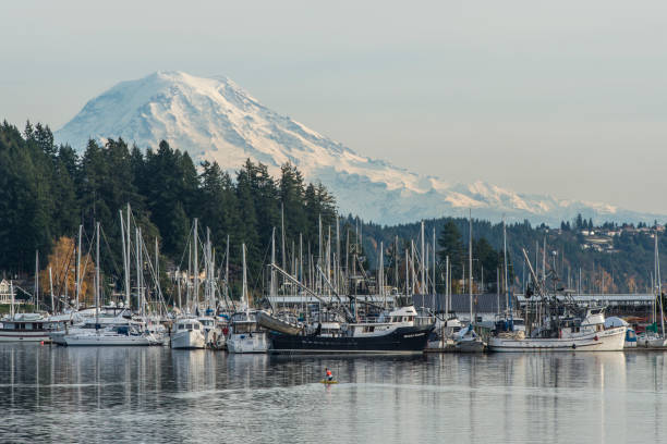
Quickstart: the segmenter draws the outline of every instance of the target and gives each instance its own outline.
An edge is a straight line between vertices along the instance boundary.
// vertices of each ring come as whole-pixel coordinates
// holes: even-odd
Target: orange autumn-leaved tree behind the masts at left
[[[48,257],[46,268],[39,273],[39,286],[43,295],[50,294],[49,268],[53,279],[56,300],[64,298],[65,293],[68,299],[73,299],[76,295],[76,245],[72,238],[62,236],[58,239]],[[95,263],[90,255],[84,254],[84,251],[81,255],[81,273],[80,303],[89,305],[93,303]],[[46,300],[50,303],[48,297]]]

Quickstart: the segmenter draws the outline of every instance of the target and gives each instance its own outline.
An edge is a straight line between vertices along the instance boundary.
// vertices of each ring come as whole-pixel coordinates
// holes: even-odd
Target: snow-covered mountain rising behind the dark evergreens
[[[227,170],[245,159],[276,173],[292,162],[310,182],[322,182],[337,197],[342,213],[379,223],[461,215],[559,223],[578,212],[596,220],[653,221],[654,215],[617,207],[549,196],[518,194],[484,182],[448,184],[381,160],[361,156],[263,106],[227,77],[195,77],[157,72],[121,82],[88,101],[56,133],[60,143],[83,149],[89,138],[122,137],[157,147],[161,139],[195,160],[215,160]],[[660,219],[660,218],[658,218]]]

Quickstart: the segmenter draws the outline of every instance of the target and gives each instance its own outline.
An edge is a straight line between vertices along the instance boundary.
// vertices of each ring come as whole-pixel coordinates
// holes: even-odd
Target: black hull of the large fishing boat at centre
[[[305,336],[270,332],[271,353],[276,354],[421,354],[433,325],[399,326],[375,336]]]

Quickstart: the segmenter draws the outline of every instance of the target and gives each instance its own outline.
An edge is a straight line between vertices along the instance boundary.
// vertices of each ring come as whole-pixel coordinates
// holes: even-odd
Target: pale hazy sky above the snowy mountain
[[[664,1],[14,1],[0,119],[59,128],[117,82],[225,74],[450,182],[667,213]]]

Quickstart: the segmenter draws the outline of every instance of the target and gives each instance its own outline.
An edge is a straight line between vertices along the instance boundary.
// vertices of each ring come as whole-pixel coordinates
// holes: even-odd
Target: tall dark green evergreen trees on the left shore
[[[315,245],[319,218],[325,226],[336,218],[335,197],[289,163],[272,177],[267,165],[248,159],[232,175],[216,162],[195,166],[186,151],[165,140],[145,152],[121,138],[89,140],[78,153],[57,145],[47,125],[27,122],[23,132],[7,121],[0,126],[0,270],[33,273],[35,251],[46,258],[61,237],[75,238],[80,224],[90,243],[100,222],[100,267],[120,282],[119,210],[128,203],[143,235],[158,239],[160,260],[182,264],[198,218],[218,251],[226,250],[229,235],[233,272],[246,244],[251,275],[266,263],[274,227],[284,225],[286,245],[300,234]]]

